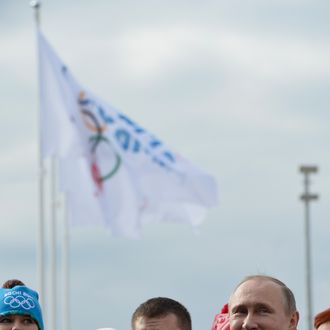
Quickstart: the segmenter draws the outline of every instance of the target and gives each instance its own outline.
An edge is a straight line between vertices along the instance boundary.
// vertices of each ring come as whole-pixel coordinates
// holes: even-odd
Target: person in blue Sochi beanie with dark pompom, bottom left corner
[[[44,330],[39,295],[20,280],[0,288],[0,330]]]

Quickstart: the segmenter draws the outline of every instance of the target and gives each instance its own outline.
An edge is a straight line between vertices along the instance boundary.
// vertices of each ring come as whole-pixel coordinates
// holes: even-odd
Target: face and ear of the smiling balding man
[[[281,287],[267,279],[241,284],[229,302],[230,329],[294,330],[299,315],[288,314]]]

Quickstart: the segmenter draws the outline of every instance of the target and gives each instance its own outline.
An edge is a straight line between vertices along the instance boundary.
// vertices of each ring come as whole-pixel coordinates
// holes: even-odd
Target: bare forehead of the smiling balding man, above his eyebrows
[[[282,288],[270,280],[258,278],[242,283],[232,294],[229,306],[233,307],[234,304],[273,305],[274,303],[284,305]]]

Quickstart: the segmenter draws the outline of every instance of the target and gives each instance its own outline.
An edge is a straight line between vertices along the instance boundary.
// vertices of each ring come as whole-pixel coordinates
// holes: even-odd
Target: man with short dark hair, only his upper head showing
[[[191,330],[188,310],[170,298],[151,298],[132,315],[132,330]]]

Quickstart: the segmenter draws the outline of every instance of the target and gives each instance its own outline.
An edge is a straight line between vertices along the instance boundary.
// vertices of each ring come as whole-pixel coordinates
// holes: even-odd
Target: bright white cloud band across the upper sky
[[[88,40],[88,39],[87,39]],[[67,44],[75,62],[83,67],[86,58],[113,67],[127,80],[151,84],[158,79],[175,79],[182,68],[218,71],[228,79],[273,83],[317,81],[330,74],[329,47],[320,40],[297,36],[242,32],[217,27],[170,25],[124,30],[114,39],[93,39]],[[96,54],[95,49],[102,49]],[[79,64],[80,63],[80,64]],[[77,65],[77,64],[76,64]],[[118,69],[119,66],[119,69]],[[229,78],[230,77],[230,78]]]

